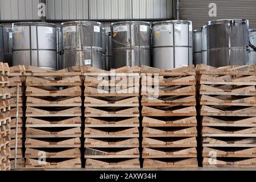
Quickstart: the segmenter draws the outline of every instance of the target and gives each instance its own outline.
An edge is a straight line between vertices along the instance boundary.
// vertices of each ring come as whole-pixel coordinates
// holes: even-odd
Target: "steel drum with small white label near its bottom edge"
[[[88,65],[102,69],[102,24],[74,21],[62,23],[61,27],[64,68]]]

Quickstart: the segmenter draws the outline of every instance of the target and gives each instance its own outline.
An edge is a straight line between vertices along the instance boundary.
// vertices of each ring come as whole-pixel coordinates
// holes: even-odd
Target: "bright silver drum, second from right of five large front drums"
[[[192,22],[168,20],[152,26],[153,66],[171,69],[193,64]]]

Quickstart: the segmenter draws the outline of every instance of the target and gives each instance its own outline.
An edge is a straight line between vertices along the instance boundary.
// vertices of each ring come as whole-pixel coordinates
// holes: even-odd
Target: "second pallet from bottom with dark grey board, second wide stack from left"
[[[85,148],[85,158],[139,158],[139,148]]]

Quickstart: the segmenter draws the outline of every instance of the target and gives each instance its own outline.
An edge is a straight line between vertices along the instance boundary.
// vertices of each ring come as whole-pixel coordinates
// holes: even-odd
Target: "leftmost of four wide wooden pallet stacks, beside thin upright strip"
[[[81,74],[26,69],[27,168],[81,168]]]

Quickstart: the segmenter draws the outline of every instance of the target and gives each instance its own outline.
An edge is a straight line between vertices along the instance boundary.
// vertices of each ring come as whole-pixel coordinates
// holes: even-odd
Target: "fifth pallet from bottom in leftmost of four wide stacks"
[[[26,119],[26,127],[81,127],[82,120],[81,117],[72,118],[32,118],[28,117]]]

